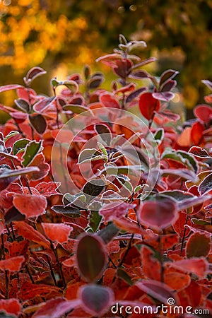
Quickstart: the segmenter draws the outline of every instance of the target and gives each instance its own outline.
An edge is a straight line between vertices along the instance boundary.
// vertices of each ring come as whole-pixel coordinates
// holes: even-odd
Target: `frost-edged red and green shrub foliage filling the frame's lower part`
[[[31,88],[40,67],[25,86],[1,86],[18,95],[1,105],[2,317],[114,317],[116,303],[117,317],[144,305],[161,317],[168,299],[210,310],[212,99],[177,125],[177,71],[145,71],[155,59],[131,54],[145,46],[119,35],[98,59],[117,76],[110,91],[88,66],[52,78],[53,96]]]

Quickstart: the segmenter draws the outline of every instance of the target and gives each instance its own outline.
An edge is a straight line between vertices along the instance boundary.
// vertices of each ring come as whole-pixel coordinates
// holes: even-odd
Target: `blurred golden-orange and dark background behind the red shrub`
[[[118,35],[145,40],[141,58],[158,58],[153,72],[180,71],[181,93],[192,108],[204,102],[212,80],[212,0],[0,0],[0,86],[23,83],[32,66],[47,75],[35,80],[38,93],[49,93],[49,80],[81,72],[84,64],[112,78],[95,59],[118,45]],[[13,105],[13,92],[0,102]]]

